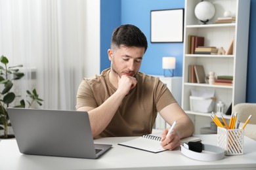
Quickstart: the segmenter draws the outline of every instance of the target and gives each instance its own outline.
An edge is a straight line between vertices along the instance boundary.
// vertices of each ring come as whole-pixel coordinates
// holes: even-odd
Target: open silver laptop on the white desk
[[[87,112],[8,108],[23,154],[95,159],[112,144],[95,144]]]

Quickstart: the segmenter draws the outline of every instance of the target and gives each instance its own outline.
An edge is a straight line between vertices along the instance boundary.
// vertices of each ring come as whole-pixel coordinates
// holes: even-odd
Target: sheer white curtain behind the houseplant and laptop
[[[0,55],[27,75],[15,89],[74,110],[81,79],[99,73],[99,0],[0,0],[0,10]]]

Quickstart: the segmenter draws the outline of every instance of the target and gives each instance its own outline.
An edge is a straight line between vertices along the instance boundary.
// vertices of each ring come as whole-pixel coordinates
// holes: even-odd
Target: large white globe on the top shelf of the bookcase
[[[208,1],[202,1],[196,5],[195,15],[198,20],[206,23],[215,15],[215,7]]]

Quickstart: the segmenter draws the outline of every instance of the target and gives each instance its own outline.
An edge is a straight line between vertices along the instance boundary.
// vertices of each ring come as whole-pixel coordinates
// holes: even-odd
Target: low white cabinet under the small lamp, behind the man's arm
[[[176,101],[181,105],[181,84],[182,84],[182,77],[181,76],[158,76],[153,75],[160,78],[161,82],[166,84],[167,88],[171,91],[173,94],[173,97],[175,97]],[[158,114],[156,117],[156,123],[154,126],[154,129],[160,129],[163,130],[166,127],[169,127],[169,124],[163,120],[163,118]]]

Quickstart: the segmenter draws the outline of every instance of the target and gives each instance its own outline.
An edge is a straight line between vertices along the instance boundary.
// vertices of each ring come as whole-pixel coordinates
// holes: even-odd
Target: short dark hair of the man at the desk
[[[114,29],[111,39],[111,48],[119,48],[120,45],[131,47],[144,47],[145,52],[148,48],[146,36],[135,25],[121,25]]]

